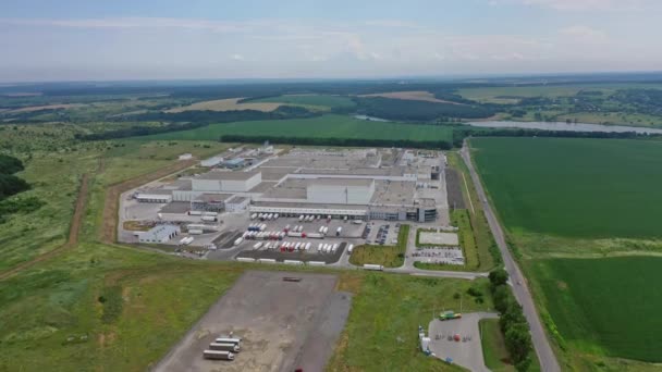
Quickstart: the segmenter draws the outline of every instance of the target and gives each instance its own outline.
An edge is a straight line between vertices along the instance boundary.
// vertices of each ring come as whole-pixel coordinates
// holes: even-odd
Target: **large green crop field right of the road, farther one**
[[[477,138],[475,161],[514,233],[580,238],[662,237],[662,144]]]

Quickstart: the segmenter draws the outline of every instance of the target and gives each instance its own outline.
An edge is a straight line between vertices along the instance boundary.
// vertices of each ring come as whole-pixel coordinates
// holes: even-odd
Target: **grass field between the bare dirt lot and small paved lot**
[[[342,284],[352,284],[355,296],[347,324],[327,371],[461,371],[426,357],[417,347],[418,325],[427,328],[434,310],[459,308],[456,293],[476,285],[489,293],[485,280],[478,282],[394,276],[370,273],[343,274]],[[397,294],[397,295],[394,295]],[[464,301],[465,312],[493,308]]]

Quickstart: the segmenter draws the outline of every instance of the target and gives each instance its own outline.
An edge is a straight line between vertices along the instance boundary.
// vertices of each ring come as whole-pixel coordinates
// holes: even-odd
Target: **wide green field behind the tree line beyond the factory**
[[[222,135],[277,136],[293,138],[366,138],[451,140],[452,129],[433,125],[371,122],[343,115],[323,115],[311,119],[236,122],[212,124],[192,131],[164,133],[140,139],[217,140]]]

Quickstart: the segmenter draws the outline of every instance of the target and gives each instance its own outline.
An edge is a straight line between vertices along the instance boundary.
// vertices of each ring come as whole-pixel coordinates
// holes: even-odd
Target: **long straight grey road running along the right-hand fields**
[[[488,224],[490,226],[490,230],[492,231],[494,240],[497,240],[497,245],[499,246],[501,256],[503,257],[505,270],[507,270],[511,276],[511,282],[516,283],[513,285],[513,293],[515,294],[515,298],[517,299],[517,301],[522,305],[524,315],[526,317],[529,323],[531,330],[531,338],[534,340],[536,354],[538,355],[538,359],[540,360],[540,367],[542,371],[561,371],[559,362],[556,361],[556,356],[554,356],[554,351],[552,350],[550,342],[547,338],[547,335],[544,334],[542,323],[540,322],[540,317],[538,317],[538,312],[536,311],[536,306],[534,305],[534,299],[526,284],[526,281],[524,280],[524,275],[522,275],[522,271],[519,270],[517,263],[511,255],[511,251],[505,243],[505,235],[503,234],[503,230],[499,224],[499,220],[497,220],[495,214],[492,211],[492,207],[489,202],[487,202],[487,195],[485,193],[482,184],[480,183],[480,178],[478,177],[478,174],[474,169],[474,164],[471,163],[471,154],[469,152],[469,148],[467,146],[466,140],[459,153],[467,168],[469,169],[469,173],[471,174],[471,179],[474,181],[476,191],[478,193],[478,198],[482,202],[482,208],[485,211],[485,215],[488,220]]]

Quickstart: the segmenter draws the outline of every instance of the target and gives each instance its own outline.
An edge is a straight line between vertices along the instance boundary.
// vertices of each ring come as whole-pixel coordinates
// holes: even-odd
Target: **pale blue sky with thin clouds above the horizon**
[[[662,70],[659,0],[2,0],[0,82]]]

